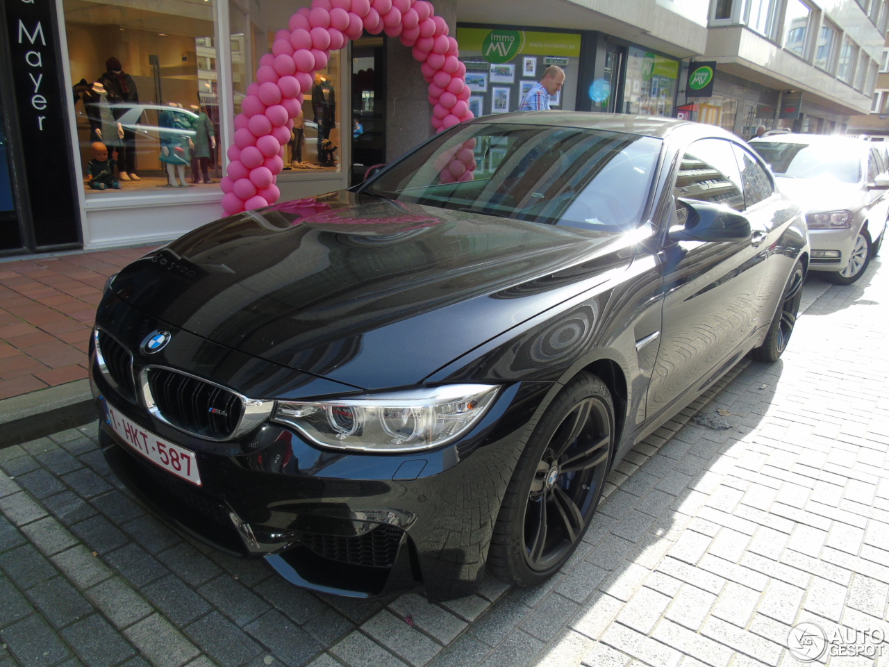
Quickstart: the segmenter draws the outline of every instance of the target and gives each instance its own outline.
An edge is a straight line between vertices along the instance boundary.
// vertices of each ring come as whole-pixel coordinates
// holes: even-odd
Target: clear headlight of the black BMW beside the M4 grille
[[[292,425],[318,445],[412,452],[459,438],[487,412],[499,389],[453,384],[346,400],[278,401],[274,421]]]

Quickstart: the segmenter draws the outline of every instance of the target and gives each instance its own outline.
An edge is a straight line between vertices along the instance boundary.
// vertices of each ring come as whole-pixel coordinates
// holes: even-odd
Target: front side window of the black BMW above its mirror
[[[741,172],[734,159],[732,144],[723,139],[701,139],[685,151],[679,165],[674,197],[744,208]],[[676,203],[677,222],[685,222],[685,206]]]

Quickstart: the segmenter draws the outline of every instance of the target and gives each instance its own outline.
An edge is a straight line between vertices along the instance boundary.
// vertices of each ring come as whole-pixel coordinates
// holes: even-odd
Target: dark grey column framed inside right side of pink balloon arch
[[[447,21],[457,35],[457,0],[432,0],[436,16]],[[396,37],[386,40],[386,161],[392,162],[426,141],[435,132],[429,121],[432,107],[420,63]]]

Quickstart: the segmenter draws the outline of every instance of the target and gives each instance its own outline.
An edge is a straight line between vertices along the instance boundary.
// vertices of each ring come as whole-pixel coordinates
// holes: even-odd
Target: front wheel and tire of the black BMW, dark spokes
[[[589,526],[613,455],[614,405],[595,375],[565,385],[535,427],[494,526],[489,571],[536,586],[565,564]]]

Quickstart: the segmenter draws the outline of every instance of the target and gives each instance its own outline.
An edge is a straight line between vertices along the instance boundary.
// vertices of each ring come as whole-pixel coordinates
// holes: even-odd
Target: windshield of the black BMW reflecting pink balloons
[[[661,143],[575,127],[461,125],[391,165],[362,192],[523,221],[625,231],[641,222]],[[474,171],[462,173],[466,165]]]

